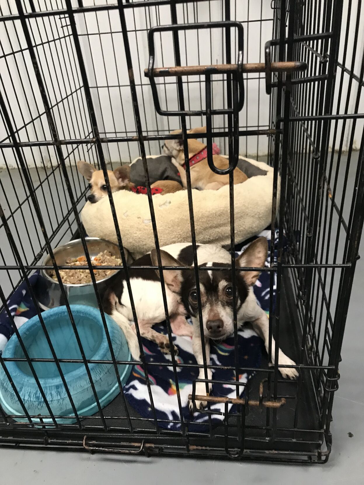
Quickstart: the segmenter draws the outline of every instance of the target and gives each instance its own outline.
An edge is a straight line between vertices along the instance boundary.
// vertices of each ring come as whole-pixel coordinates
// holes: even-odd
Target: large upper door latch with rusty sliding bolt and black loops
[[[216,65],[176,65],[173,67],[154,67],[155,61],[155,46],[154,46],[154,34],[157,32],[173,32],[176,64],[181,64],[179,53],[178,32],[181,30],[198,30],[198,29],[214,29],[224,28],[227,32],[230,32],[231,28],[237,31],[237,63],[236,64],[216,64]],[[230,38],[230,37],[229,37]],[[155,111],[161,116],[206,116],[206,146],[207,146],[207,162],[210,169],[219,175],[227,175],[233,172],[236,168],[239,158],[239,112],[244,106],[244,72],[265,72],[265,91],[268,95],[272,92],[272,73],[273,72],[293,72],[299,70],[305,70],[307,64],[304,62],[271,62],[270,47],[271,43],[268,41],[265,44],[265,63],[250,63],[243,64],[243,52],[244,52],[244,28],[240,22],[232,20],[223,20],[220,22],[200,22],[191,24],[173,24],[162,25],[152,27],[148,32],[149,43],[149,64],[148,68],[144,70],[144,75],[149,78],[150,87],[152,91],[152,97],[154,102]],[[178,55],[177,55],[178,52]],[[212,96],[211,96],[211,76],[213,74],[225,74],[226,82],[228,86],[231,86],[230,101],[228,99],[228,107],[222,109],[212,108]],[[183,101],[183,88],[182,88],[182,76],[205,76],[205,109],[200,110],[185,110]],[[171,77],[176,76],[179,93],[179,105],[180,110],[167,111],[161,108],[160,100],[158,97],[157,84],[155,78],[158,77]],[[231,99],[232,94],[232,99]],[[229,160],[229,167],[220,169],[215,166],[213,161],[212,152],[212,116],[215,114],[228,115],[232,130],[232,157]],[[185,155],[187,157],[187,155]]]

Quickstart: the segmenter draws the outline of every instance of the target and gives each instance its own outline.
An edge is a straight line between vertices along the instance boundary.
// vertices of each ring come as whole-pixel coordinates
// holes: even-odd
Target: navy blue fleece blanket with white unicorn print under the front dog
[[[259,236],[265,236],[268,240],[270,249],[270,230],[265,230]],[[257,237],[259,237],[257,236]],[[236,246],[235,254],[238,256],[242,253],[244,248],[254,239],[241,243]],[[275,245],[278,242],[278,231],[275,233]],[[270,252],[269,252],[270,254]],[[275,259],[277,257],[276,251],[274,253]],[[266,265],[270,263],[270,256],[266,261]],[[276,275],[274,275],[276,278]],[[32,286],[35,285],[38,278],[38,273],[35,272],[30,276],[29,281]],[[269,273],[264,272],[260,275],[258,281],[254,285],[254,294],[257,298],[258,304],[269,313]],[[273,288],[273,307],[276,299],[276,279]],[[30,318],[36,314],[36,309],[25,282],[20,284],[14,294],[8,301],[8,306],[17,327],[26,323]],[[166,325],[161,323],[155,325],[154,328],[161,333],[166,332]],[[6,345],[6,342],[14,333],[10,319],[3,310],[0,314],[0,351]],[[192,339],[189,337],[174,336],[174,344],[179,349],[179,355],[176,356],[177,363],[196,364],[196,359],[192,352]],[[238,347],[239,347],[239,365],[242,367],[258,368],[261,363],[262,355],[262,340],[249,327],[242,328],[238,332]],[[150,340],[143,339],[143,347],[147,362],[152,363],[166,362],[171,363],[171,356],[163,355],[159,351],[157,345]],[[213,379],[216,381],[231,382],[235,380],[235,373],[231,370],[224,370],[222,367],[234,366],[234,342],[233,338],[228,338],[221,343],[213,343],[211,345],[211,363],[221,367],[213,372]],[[158,424],[161,427],[171,430],[181,429],[180,412],[177,401],[176,383],[173,373],[172,365],[158,366],[150,365],[149,382],[151,385],[151,392],[155,406],[155,413]],[[183,367],[178,369],[178,382],[180,387],[180,396],[182,403],[182,412],[185,422],[188,422],[190,431],[208,430],[208,415],[204,413],[195,413],[191,417],[188,406],[188,394],[192,393],[192,381],[198,377],[198,368]],[[245,372],[239,375],[241,383],[247,383],[248,379],[253,375],[253,372]],[[241,394],[244,396],[244,386],[240,387]],[[231,385],[213,384],[212,395],[214,396],[231,396],[236,397],[236,387]],[[153,419],[154,414],[151,409],[148,387],[143,369],[139,365],[135,365],[132,369],[131,376],[125,386],[125,396],[131,406],[144,418]],[[212,411],[224,412],[223,404],[211,405]],[[230,412],[236,411],[236,406],[229,406]],[[223,420],[222,415],[212,415],[212,424],[217,425]],[[173,422],[175,421],[175,422]],[[198,424],[199,423],[199,424]]]

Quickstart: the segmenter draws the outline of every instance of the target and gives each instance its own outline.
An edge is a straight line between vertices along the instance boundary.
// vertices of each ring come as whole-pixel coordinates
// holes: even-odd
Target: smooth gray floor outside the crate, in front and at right
[[[364,240],[361,245],[364,254]],[[0,451],[0,481],[4,485],[32,484],[364,484],[363,369],[364,261],[359,260],[335,394],[331,431],[333,446],[324,466],[144,458],[87,453]],[[349,436],[352,435],[352,437]]]

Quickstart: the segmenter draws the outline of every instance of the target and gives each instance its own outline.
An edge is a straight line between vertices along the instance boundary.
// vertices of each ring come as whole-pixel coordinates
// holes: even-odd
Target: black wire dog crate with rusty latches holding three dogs
[[[263,356],[238,411],[208,432],[191,431],[182,418],[178,432],[142,418],[120,387],[112,404],[91,418],[75,416],[75,424],[58,423],[52,412],[52,424],[36,425],[26,413],[17,422],[0,409],[1,446],[328,460],[364,216],[362,17],[355,0],[1,2],[0,298],[15,332],[7,302],[24,281],[35,299],[29,277],[44,255],[53,258],[76,236],[86,250],[80,211],[88,186],[76,162],[94,163],[105,178],[110,165],[138,156],[146,169],[146,155],[159,154],[179,128],[169,137],[182,138],[188,160],[187,139],[197,136],[187,129],[206,124],[209,158],[213,139],[229,154],[232,249],[239,153],[274,167],[269,229],[271,241],[279,229],[278,259],[263,270],[270,294],[277,289],[269,333],[299,371],[297,381],[284,380],[278,359],[271,365]],[[187,193],[196,262],[190,185]],[[108,196],[117,226],[110,189]],[[122,248],[122,228],[116,233]],[[125,266],[123,251],[122,259]],[[92,274],[89,256],[87,264]],[[95,280],[94,287],[98,294]],[[171,339],[170,332],[168,325]],[[24,360],[33,368],[42,356]],[[62,374],[60,360],[52,361]],[[148,375],[143,355],[139,364]],[[6,369],[5,357],[0,365]],[[171,366],[179,396],[182,364],[172,357]],[[207,375],[206,358],[203,367]]]

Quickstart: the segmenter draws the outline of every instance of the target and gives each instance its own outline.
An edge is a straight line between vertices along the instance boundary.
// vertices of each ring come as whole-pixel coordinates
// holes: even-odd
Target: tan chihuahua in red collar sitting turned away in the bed
[[[181,129],[171,131],[171,134],[181,133]],[[206,133],[206,127],[192,128],[187,133]],[[163,147],[165,155],[172,158],[172,163],[178,168],[184,188],[187,188],[186,170],[184,168],[184,152],[182,140],[165,140]],[[229,167],[229,161],[221,157],[217,146],[213,146],[213,161],[215,167],[225,169]],[[206,145],[195,139],[188,140],[188,158],[191,170],[191,187],[192,189],[210,189],[218,190],[223,185],[229,185],[229,174],[215,174],[207,162]],[[234,170],[234,184],[245,182],[248,177],[239,168]]]

